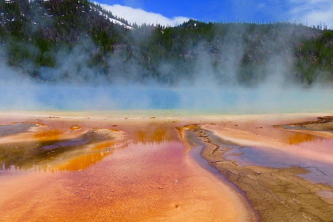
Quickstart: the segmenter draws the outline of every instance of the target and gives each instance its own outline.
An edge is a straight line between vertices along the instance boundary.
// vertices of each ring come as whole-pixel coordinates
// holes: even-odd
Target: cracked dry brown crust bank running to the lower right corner
[[[241,167],[235,161],[224,159],[223,154],[230,148],[214,144],[207,134],[208,130],[196,125],[189,131],[195,133],[206,145],[201,151],[201,156],[209,165],[218,169],[229,181],[244,191],[251,205],[258,212],[260,221],[332,222],[333,205],[321,198],[317,192],[321,190],[333,192],[333,188],[325,184],[313,184],[297,176],[307,173],[307,169],[298,166]],[[217,160],[219,162],[215,162]]]

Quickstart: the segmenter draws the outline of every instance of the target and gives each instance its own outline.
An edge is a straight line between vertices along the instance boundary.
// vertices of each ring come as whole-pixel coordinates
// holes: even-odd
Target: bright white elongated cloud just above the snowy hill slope
[[[98,3],[98,2],[97,2]],[[156,24],[160,23],[161,25],[179,25],[184,21],[187,21],[189,18],[176,16],[173,18],[168,18],[162,14],[145,11],[141,8],[132,8],[129,6],[123,6],[120,4],[108,5],[108,4],[101,4],[107,10],[110,10],[114,15],[118,17],[125,18],[127,21],[134,23],[136,22],[138,25],[147,23],[147,24]]]

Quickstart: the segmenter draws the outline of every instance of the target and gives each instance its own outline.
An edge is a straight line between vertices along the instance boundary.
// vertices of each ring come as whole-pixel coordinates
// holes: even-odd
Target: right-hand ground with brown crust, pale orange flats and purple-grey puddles
[[[333,134],[272,126],[288,118],[230,117],[182,131],[188,146],[203,144],[201,156],[245,192],[261,221],[331,222]]]

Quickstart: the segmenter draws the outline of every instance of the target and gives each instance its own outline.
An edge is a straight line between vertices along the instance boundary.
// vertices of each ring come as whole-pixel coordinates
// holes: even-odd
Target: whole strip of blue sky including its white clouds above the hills
[[[333,28],[333,0],[98,0],[129,22],[178,25],[201,21],[296,21]]]

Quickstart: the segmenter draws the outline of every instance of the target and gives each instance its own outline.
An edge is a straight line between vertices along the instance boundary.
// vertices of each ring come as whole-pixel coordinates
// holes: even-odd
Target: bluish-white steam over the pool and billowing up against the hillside
[[[207,42],[188,46],[190,55],[195,56],[186,75],[179,73],[172,61],[163,61],[158,65],[162,82],[154,77],[142,79],[143,64],[116,59],[121,57],[116,53],[106,60],[111,70],[105,75],[102,67],[90,64],[89,53],[98,48],[89,39],[82,40],[71,50],[55,51],[57,66],[41,68],[40,79],[8,66],[2,59],[0,110],[171,109],[219,114],[333,111],[331,87],[323,88],[318,79],[312,88],[304,89],[290,79],[293,55],[279,47],[282,40],[290,41],[287,47],[292,46],[293,30],[281,36],[277,34],[275,40],[263,39],[262,44],[271,50],[271,56],[251,74],[254,81],[250,85],[241,83],[237,76],[243,71],[240,63],[247,50],[245,40],[234,39],[231,31],[235,30],[227,30],[223,41],[219,42],[223,44],[219,45],[220,52],[215,55],[204,50]],[[242,30],[236,31],[242,34]],[[258,52],[260,50],[258,46]]]

